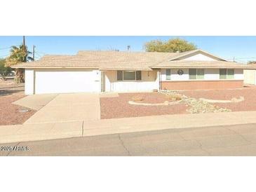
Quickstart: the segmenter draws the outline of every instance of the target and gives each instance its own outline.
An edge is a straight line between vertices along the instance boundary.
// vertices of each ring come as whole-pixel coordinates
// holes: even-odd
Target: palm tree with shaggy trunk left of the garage
[[[14,64],[20,64],[22,62],[32,61],[33,58],[29,57],[31,52],[27,50],[27,46],[12,46],[11,55],[6,58],[6,67],[11,67]],[[24,82],[24,70],[16,69],[16,83]]]

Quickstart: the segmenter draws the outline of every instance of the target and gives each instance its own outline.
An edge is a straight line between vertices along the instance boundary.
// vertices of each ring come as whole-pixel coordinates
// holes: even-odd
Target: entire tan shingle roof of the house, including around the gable
[[[77,55],[45,55],[35,62],[25,62],[13,68],[90,68],[100,70],[151,70],[164,67],[203,67],[203,68],[246,68],[244,64],[220,61],[185,61],[180,57],[195,53],[206,53],[203,50],[192,50],[185,53],[152,53],[121,51],[79,51]],[[211,55],[215,57],[214,55]],[[255,68],[255,67],[254,67]]]

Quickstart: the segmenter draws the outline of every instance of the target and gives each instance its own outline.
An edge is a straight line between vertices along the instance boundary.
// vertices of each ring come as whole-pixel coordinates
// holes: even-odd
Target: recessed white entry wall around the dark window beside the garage
[[[158,71],[142,71],[141,81],[117,81],[117,71],[104,71],[105,91],[133,92],[159,89]]]

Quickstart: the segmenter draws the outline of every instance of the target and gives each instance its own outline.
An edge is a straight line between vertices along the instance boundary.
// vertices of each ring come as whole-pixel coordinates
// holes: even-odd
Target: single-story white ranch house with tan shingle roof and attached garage
[[[77,55],[46,55],[13,68],[25,69],[25,94],[31,95],[242,88],[243,69],[248,67],[203,50],[192,50],[79,51]]]

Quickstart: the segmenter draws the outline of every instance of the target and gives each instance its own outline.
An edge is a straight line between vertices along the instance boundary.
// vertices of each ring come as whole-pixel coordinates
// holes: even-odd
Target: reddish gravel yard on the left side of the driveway
[[[25,107],[12,104],[24,95],[24,84],[12,81],[0,81],[0,125],[15,125],[24,123],[35,111],[20,112]]]

